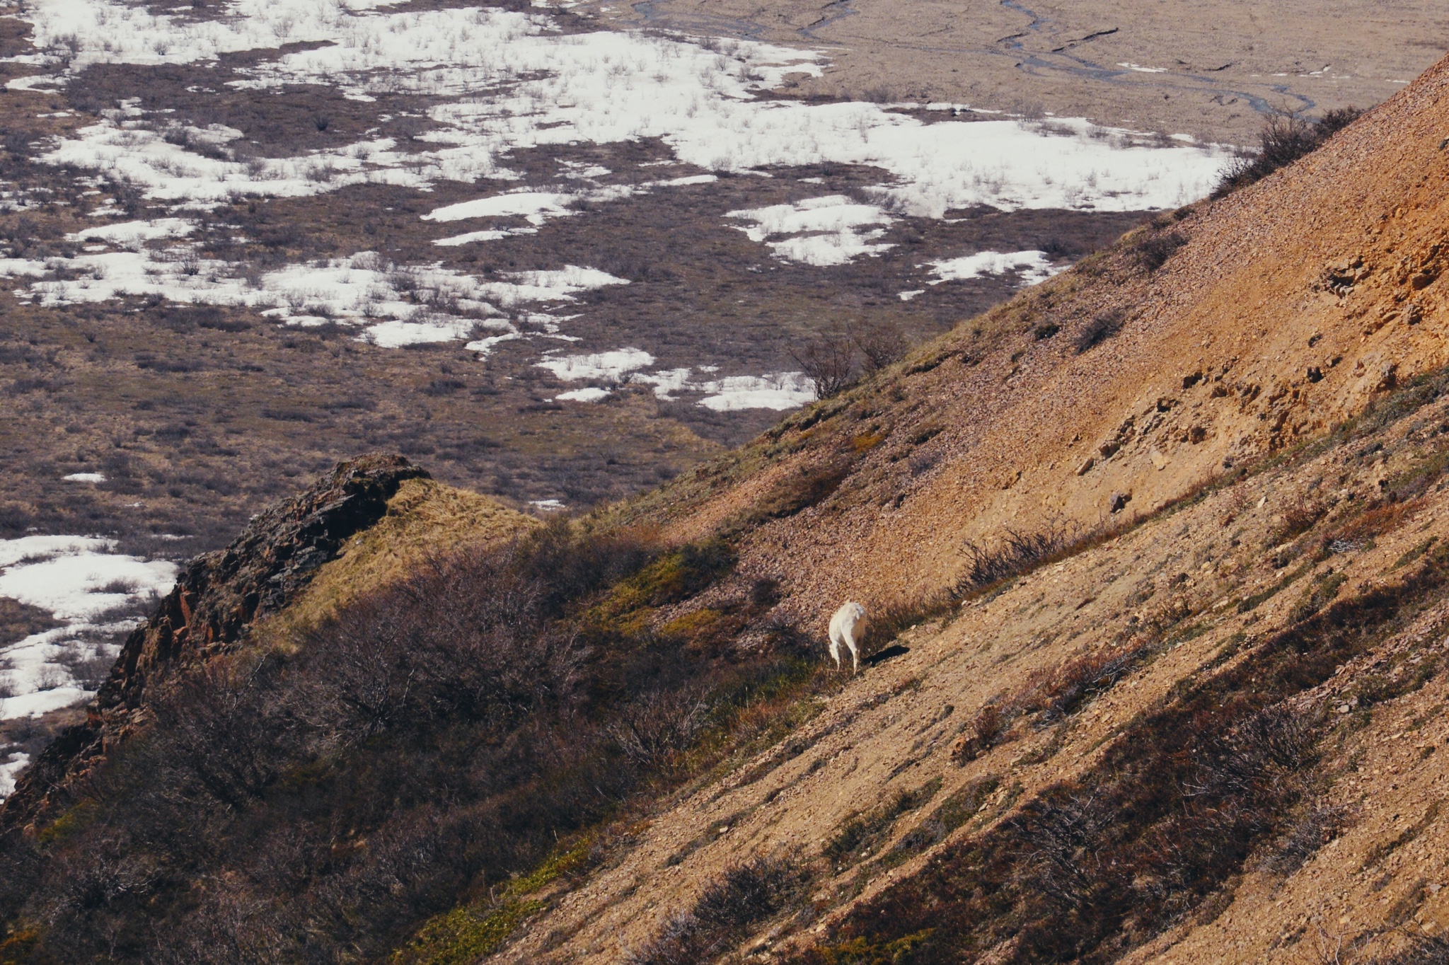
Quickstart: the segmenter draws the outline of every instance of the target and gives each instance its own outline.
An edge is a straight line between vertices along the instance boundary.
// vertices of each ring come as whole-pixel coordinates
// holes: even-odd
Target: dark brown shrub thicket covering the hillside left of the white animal
[[[558,874],[597,861],[585,829],[817,685],[768,587],[656,624],[732,565],[559,520],[185,674],[58,820],[0,842],[0,961],[377,958],[439,914],[409,961],[451,961],[483,926],[446,913],[561,840],[584,846]]]

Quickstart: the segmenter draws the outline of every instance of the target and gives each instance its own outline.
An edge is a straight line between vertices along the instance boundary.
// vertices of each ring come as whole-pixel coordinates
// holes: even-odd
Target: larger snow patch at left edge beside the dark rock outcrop
[[[77,667],[113,661],[119,648],[110,640],[135,626],[129,614],[171,590],[175,564],[114,548],[114,540],[97,536],[0,539],[0,597],[45,610],[62,624],[0,648],[0,719],[88,700]],[[6,766],[0,764],[0,775]],[[0,777],[0,795],[6,780]]]

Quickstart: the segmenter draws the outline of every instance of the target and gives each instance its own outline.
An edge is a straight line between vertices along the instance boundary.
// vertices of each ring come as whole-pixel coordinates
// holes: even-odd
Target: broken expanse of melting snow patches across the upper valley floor
[[[588,204],[710,184],[719,174],[777,165],[849,164],[881,171],[859,197],[824,194],[794,204],[736,210],[730,226],[771,256],[813,267],[878,256],[900,217],[943,217],[988,204],[1001,210],[1126,212],[1174,207],[1207,193],[1227,151],[1139,143],[1129,132],[1053,119],[1052,130],[1016,120],[924,123],[869,103],[769,100],[788,74],[819,74],[823,57],[753,42],[697,43],[685,36],[600,30],[564,33],[543,13],[496,9],[391,9],[396,0],[232,0],[222,16],[154,13],[119,0],[32,0],[20,16],[45,54],[12,61],[33,75],[12,88],[64,85],[91,64],[210,64],[223,54],[277,51],[239,68],[233,88],[280,91],[325,84],[355,101],[416,93],[436,99],[433,128],[407,143],[365,136],[291,158],[243,158],[227,145],[239,130],[184,128],[123,101],[94,125],[55,141],[42,159],[125,180],[171,206],[167,217],[97,225],[71,241],[87,254],[46,261],[0,259],[25,297],[45,304],[161,296],[180,303],[251,306],[288,325],[339,322],[381,346],[462,341],[480,355],[498,343],[568,338],[552,310],[578,293],[627,284],[559,264],[481,281],[439,265],[394,265],[375,254],[285,265],[259,277],[242,265],[203,259],[190,241],[200,210],[235,197],[298,197],[356,184],[430,190],[440,181],[496,181],[480,197],[438,207],[426,220],[458,225],[435,243],[488,245],[535,233],[552,219],[584,216]],[[177,10],[185,10],[177,7]],[[291,49],[283,45],[312,45]],[[1135,65],[1133,65],[1135,67]],[[1136,68],[1135,70],[1153,70]],[[168,126],[170,125],[170,126]],[[577,143],[658,139],[675,161],[703,174],[600,185],[603,167],[575,165],[577,188],[527,185],[513,152]],[[201,149],[194,149],[201,148]],[[19,203],[7,199],[6,203]],[[110,209],[114,210],[114,209]],[[519,222],[523,222],[522,225]],[[1027,258],[1036,255],[1039,258]],[[1014,259],[1014,261],[1013,261]],[[935,262],[930,284],[1020,271],[1023,283],[1052,268],[1040,252],[993,252]],[[423,297],[414,297],[422,291]],[[404,297],[407,293],[407,297]],[[903,293],[914,297],[919,293]],[[582,359],[648,355],[620,349]],[[661,397],[701,393],[698,404],[730,412],[787,409],[813,396],[798,372],[691,378],[690,369],[645,372],[545,354],[539,365],[562,381],[652,383]],[[569,368],[569,367],[574,368]],[[588,369],[596,365],[600,374]],[[682,372],[682,374],[681,374]],[[607,385],[568,390],[568,401],[600,401]]]

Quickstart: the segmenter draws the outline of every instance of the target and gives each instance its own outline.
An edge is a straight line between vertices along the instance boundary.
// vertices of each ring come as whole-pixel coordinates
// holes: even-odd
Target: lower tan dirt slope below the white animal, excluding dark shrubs
[[[1391,926],[1420,920],[1430,933],[1449,926],[1449,908],[1435,900],[1436,885],[1449,880],[1446,829],[1435,823],[1449,780],[1449,758],[1440,753],[1449,739],[1442,720],[1449,685],[1436,675],[1446,658],[1449,600],[1443,562],[1430,552],[1449,535],[1449,496],[1435,488],[1404,501],[1378,498],[1384,482],[1390,491],[1413,488],[1427,475],[1443,485],[1449,406],[1443,398],[1413,406],[1427,397],[1411,398],[1408,414],[1394,412],[1403,417],[1387,427],[1366,420],[1336,445],[971,600],[943,626],[909,630],[898,640],[909,653],[849,681],[790,740],[652,816],[617,865],[564,897],[503,961],[620,961],[729,866],[758,855],[813,862],[817,871],[813,906],[772,923],[782,936],[809,943],[832,935],[888,895],[891,884],[933,859],[949,866],[972,836],[1003,833],[1020,816],[1013,806],[1145,756],[1145,719],[1184,693],[1220,688],[1224,704],[1236,690],[1253,694],[1259,672],[1268,674],[1259,664],[1287,633],[1330,638],[1324,626],[1335,622],[1361,626],[1364,639],[1333,643],[1329,662],[1284,690],[1326,735],[1323,759],[1304,781],[1313,790],[1294,804],[1298,811],[1266,822],[1274,830],[1256,842],[1249,874],[1239,878],[1235,866],[1207,877],[1207,891],[1226,888],[1210,901],[1185,903],[1208,908],[1201,922],[1190,917],[1137,958],[1171,948],[1172,961],[1256,961],[1259,953],[1320,961],[1320,924],[1335,942],[1374,939],[1374,951],[1394,937]],[[1314,519],[1304,533],[1284,538]],[[1391,604],[1371,617],[1356,613],[1385,587]],[[1335,597],[1342,610],[1319,617]],[[1313,626],[1314,619],[1329,623]],[[1103,672],[1100,665],[1114,659],[1122,664]],[[1248,680],[1230,680],[1235,672]],[[1074,681],[1085,681],[1085,693],[1071,697]],[[958,739],[975,733],[988,704],[1009,723],[969,759]],[[822,852],[852,817],[888,807],[900,793],[910,795],[909,806],[888,813],[864,851],[822,869]],[[955,829],[940,823],[953,800],[969,806],[958,803],[961,829],[945,836]],[[1130,829],[1129,813],[1114,817]],[[1311,858],[1327,837],[1332,846]],[[1308,862],[1282,874],[1303,861],[1298,852]],[[1152,933],[1145,927],[1137,937]],[[543,959],[540,945],[551,935],[571,940]],[[761,945],[781,939],[769,937]]]

